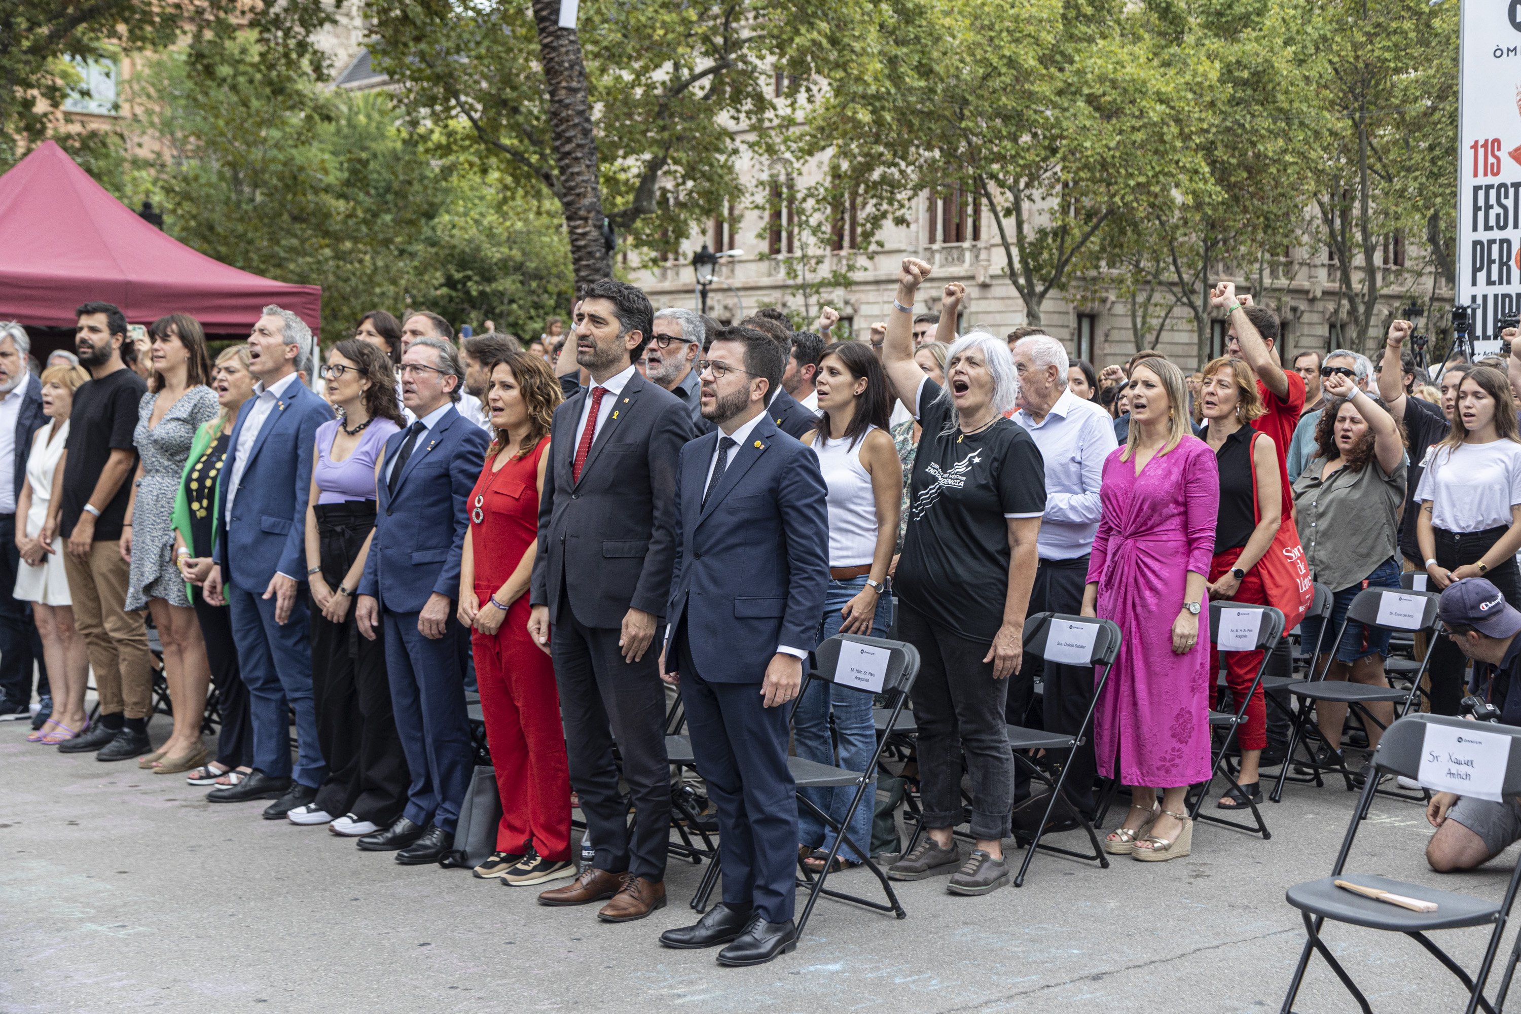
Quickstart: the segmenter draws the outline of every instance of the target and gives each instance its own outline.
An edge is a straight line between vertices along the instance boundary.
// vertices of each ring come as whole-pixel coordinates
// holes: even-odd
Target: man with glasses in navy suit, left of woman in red
[[[470,524],[465,500],[490,438],[455,407],[464,380],[455,347],[443,339],[414,339],[402,354],[402,403],[417,421],[386,441],[376,531],[354,604],[365,637],[385,623],[395,731],[412,775],[402,816],[357,844],[395,851],[403,865],[438,862],[455,847],[475,769],[459,646],[465,631],[455,597]]]

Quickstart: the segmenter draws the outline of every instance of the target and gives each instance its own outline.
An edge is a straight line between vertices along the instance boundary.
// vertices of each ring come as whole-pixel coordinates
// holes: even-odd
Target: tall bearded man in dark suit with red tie
[[[573,883],[538,900],[611,898],[598,912],[608,923],[665,906],[671,786],[653,642],[671,593],[677,459],[694,427],[686,404],[634,368],[653,318],[634,286],[595,281],[581,290],[570,341],[592,386],[555,409],[529,599],[528,629],[555,660],[570,784],[596,847]]]

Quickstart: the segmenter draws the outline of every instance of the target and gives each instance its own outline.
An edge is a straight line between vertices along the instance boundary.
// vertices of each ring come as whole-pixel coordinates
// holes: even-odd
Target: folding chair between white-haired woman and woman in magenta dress
[[[1109,868],[1109,857],[1098,844],[1098,835],[1094,832],[1092,822],[1072,804],[1071,797],[1066,794],[1066,775],[1072,765],[1063,763],[1056,781],[1053,781],[1051,775],[1042,771],[1027,751],[1043,749],[1048,754],[1056,749],[1072,751],[1091,737],[1094,731],[1094,708],[1098,707],[1098,699],[1109,683],[1109,672],[1115,664],[1115,655],[1119,654],[1119,625],[1113,620],[1098,620],[1091,616],[1066,616],[1063,613],[1036,613],[1025,619],[1025,654],[1051,658],[1053,654],[1062,652],[1054,661],[1074,666],[1103,666],[1104,675],[1098,677],[1094,684],[1094,698],[1088,702],[1088,711],[1083,715],[1083,722],[1078,725],[1075,736],[1046,733],[1039,728],[1024,728],[1021,725],[1005,727],[1008,745],[1015,751],[1015,763],[1022,765],[1031,778],[1039,778],[1051,789],[1051,801],[1046,803],[1046,812],[1040,816],[1040,822],[1036,824],[1036,833],[1030,839],[1030,845],[1025,847],[1024,862],[1019,863],[1019,873],[1015,876],[1016,888],[1024,886],[1025,873],[1030,870],[1030,862],[1034,859],[1037,848],[1074,859],[1098,860],[1100,868]],[[1074,661],[1074,651],[1084,652],[1086,660]],[[1045,836],[1046,825],[1051,822],[1051,813],[1056,810],[1059,798],[1072,813],[1077,813],[1078,824],[1088,832],[1088,841],[1094,847],[1092,854],[1046,845],[1040,841]]]

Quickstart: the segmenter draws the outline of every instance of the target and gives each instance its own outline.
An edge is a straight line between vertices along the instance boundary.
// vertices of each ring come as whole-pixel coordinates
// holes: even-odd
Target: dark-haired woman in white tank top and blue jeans
[[[818,455],[829,486],[829,591],[820,617],[818,640],[835,634],[887,637],[893,600],[884,588],[897,544],[897,514],[903,467],[887,432],[893,395],[882,365],[864,342],[837,342],[818,363],[820,427],[803,435]],[[829,736],[834,715],[840,756]],[[876,749],[872,695],[829,683],[814,683],[797,702],[797,756],[850,771],[865,771]],[[841,822],[855,787],[802,789],[824,813]],[[872,847],[872,806],[876,786],[867,789],[850,815],[835,868],[856,867]],[[806,807],[797,813],[799,850],[805,865],[823,870],[834,839]]]

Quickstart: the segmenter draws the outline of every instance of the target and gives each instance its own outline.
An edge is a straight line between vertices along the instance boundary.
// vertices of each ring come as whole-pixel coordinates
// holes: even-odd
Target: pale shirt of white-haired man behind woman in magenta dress
[[[1013,418],[1030,432],[1045,459],[1046,509],[1036,537],[1040,559],[1086,556],[1094,550],[1104,509],[1098,496],[1104,459],[1119,445],[1113,420],[1071,391],[1062,391],[1039,424],[1024,409]]]

